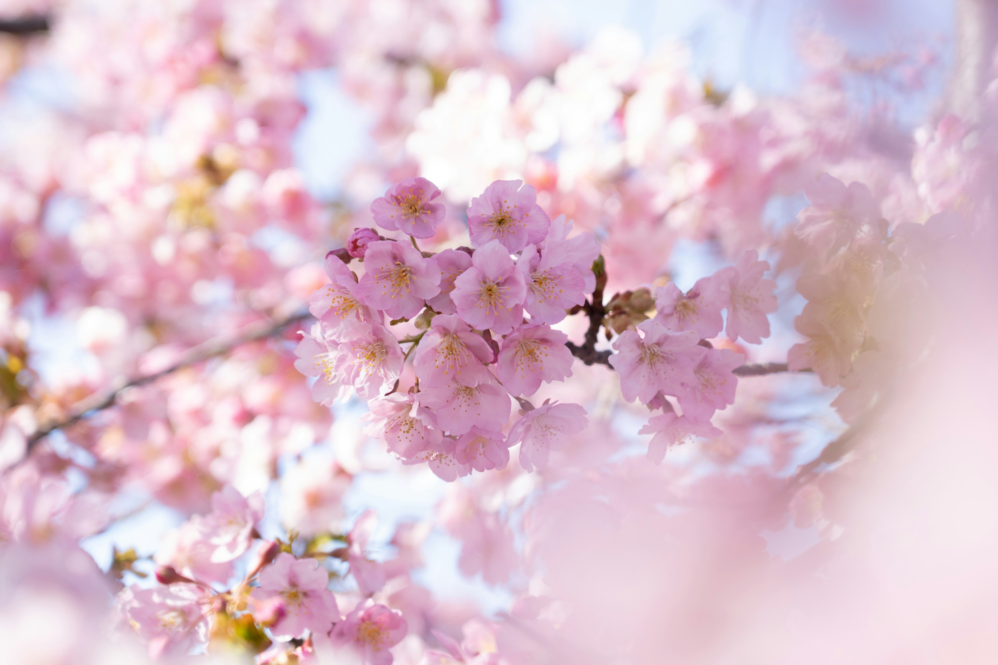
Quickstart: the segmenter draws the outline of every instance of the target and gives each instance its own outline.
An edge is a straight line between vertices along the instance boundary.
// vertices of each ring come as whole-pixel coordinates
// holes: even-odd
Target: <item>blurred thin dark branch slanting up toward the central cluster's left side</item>
[[[42,439],[49,436],[56,430],[61,430],[63,428],[69,427],[78,423],[79,421],[86,418],[88,415],[96,413],[98,411],[103,411],[109,409],[115,405],[118,397],[129,388],[136,388],[138,386],[145,386],[147,384],[159,381],[163,377],[169,376],[174,372],[182,370],[192,365],[197,365],[198,363],[210,360],[217,356],[222,356],[233,349],[243,346],[244,344],[249,344],[250,342],[255,342],[256,340],[266,339],[267,337],[272,337],[276,335],[281,330],[287,326],[300,321],[301,319],[308,316],[308,310],[298,310],[293,314],[279,319],[277,321],[262,322],[254,325],[248,326],[240,335],[237,337],[229,337],[223,339],[212,339],[204,344],[199,344],[198,346],[188,349],[183,357],[176,363],[167,367],[159,372],[154,372],[153,374],[147,374],[145,376],[136,377],[134,379],[122,379],[112,388],[109,388],[103,393],[97,393],[91,395],[85,400],[76,403],[70,410],[70,415],[64,419],[49,423],[42,428],[40,428],[35,434],[33,434],[28,439],[28,447],[25,451],[25,458],[31,454],[31,451],[41,442]]]

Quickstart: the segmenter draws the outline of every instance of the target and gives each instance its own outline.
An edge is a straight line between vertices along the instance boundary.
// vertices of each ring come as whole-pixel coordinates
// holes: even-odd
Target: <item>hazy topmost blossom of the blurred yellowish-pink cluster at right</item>
[[[877,218],[876,204],[869,187],[861,182],[849,186],[821,173],[804,186],[810,205],[797,214],[797,237],[822,251],[834,252],[855,237],[859,229]]]

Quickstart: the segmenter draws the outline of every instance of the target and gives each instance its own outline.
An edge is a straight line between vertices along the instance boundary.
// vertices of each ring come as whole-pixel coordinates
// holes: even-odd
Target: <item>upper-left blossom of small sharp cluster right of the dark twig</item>
[[[731,268],[728,268],[731,270]],[[730,273],[721,270],[697,280],[685,294],[669,282],[655,289],[655,320],[674,332],[693,330],[701,339],[717,337],[725,327],[721,310],[728,307]]]

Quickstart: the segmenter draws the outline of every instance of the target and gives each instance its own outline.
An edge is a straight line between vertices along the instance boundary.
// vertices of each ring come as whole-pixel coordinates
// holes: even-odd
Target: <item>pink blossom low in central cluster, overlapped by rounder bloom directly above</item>
[[[476,386],[432,386],[420,391],[419,400],[432,409],[440,429],[453,435],[464,434],[474,426],[500,430],[509,420],[509,394],[488,373]]]

